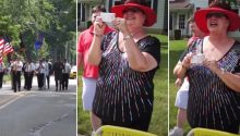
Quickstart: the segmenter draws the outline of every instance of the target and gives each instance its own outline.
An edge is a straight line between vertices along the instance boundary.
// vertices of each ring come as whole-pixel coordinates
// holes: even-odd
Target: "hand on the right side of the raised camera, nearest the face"
[[[129,33],[124,18],[116,17],[116,18],[112,21],[112,24],[113,24],[122,34]]]

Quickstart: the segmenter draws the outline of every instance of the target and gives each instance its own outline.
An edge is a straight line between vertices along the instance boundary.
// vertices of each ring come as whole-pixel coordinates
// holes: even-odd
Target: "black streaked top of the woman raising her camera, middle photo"
[[[143,51],[152,46],[158,54],[159,41],[148,36],[137,42]],[[156,48],[155,48],[156,47]],[[127,53],[119,50],[118,33],[104,40],[99,79],[93,102],[94,113],[108,122],[128,123],[153,111],[153,77],[157,70],[131,70]],[[156,58],[159,62],[159,58]]]

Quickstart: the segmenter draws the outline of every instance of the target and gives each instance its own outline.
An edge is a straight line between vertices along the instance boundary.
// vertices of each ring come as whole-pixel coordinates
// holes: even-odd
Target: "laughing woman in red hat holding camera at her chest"
[[[185,74],[189,77],[188,121],[192,127],[238,134],[240,44],[227,33],[239,28],[240,18],[228,4],[217,1],[208,9],[196,11],[194,17],[200,29],[209,36],[194,41],[175,71],[178,77]],[[202,64],[191,64],[197,50],[205,60]]]

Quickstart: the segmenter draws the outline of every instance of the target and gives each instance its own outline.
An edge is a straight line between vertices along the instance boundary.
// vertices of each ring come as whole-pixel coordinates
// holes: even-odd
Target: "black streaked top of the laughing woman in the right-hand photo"
[[[193,51],[193,49],[196,48],[192,47],[189,51]],[[220,69],[227,72],[240,73],[239,42],[235,42],[217,63]],[[204,65],[192,65],[188,71],[188,76],[190,82],[188,121],[190,125],[238,133],[240,94],[230,89]]]

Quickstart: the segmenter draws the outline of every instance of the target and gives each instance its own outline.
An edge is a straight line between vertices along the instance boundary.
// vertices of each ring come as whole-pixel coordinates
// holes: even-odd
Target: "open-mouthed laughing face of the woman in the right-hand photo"
[[[226,14],[220,12],[211,12],[206,15],[207,28],[212,32],[227,32],[229,20]]]

